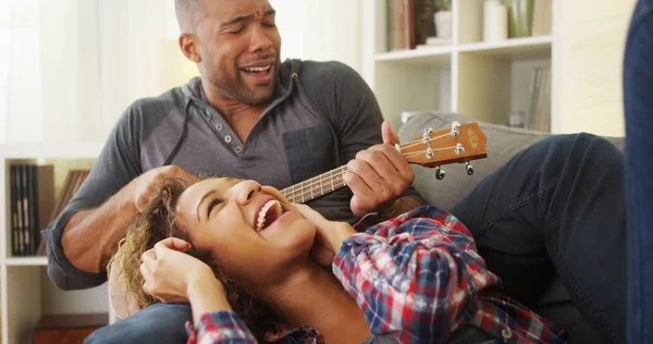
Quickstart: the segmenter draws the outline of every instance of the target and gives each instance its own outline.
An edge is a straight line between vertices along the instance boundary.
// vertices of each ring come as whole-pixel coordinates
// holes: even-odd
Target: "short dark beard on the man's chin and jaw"
[[[236,75],[234,78],[231,77],[217,77],[212,78],[210,82],[218,89],[222,89],[224,94],[244,105],[248,106],[259,106],[268,102],[272,95],[274,94],[274,85],[276,83],[278,77],[278,69],[274,66],[274,75],[270,82],[270,85],[264,86],[264,90],[259,87],[258,91],[249,89],[247,85],[243,82],[241,76],[241,71],[236,70]],[[229,75],[229,72],[222,69],[219,75]]]

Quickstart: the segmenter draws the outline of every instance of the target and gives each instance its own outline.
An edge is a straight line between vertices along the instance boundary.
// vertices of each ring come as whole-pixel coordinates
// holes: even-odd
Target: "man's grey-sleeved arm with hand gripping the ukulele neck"
[[[361,218],[379,211],[392,217],[422,205],[423,199],[410,186],[412,170],[393,147],[398,137],[389,123],[381,130],[381,109],[362,77],[337,62],[321,64],[316,71],[316,75],[304,75],[304,86],[336,132],[338,156],[347,162],[344,179],[354,193],[354,214]],[[321,83],[311,83],[315,79]]]

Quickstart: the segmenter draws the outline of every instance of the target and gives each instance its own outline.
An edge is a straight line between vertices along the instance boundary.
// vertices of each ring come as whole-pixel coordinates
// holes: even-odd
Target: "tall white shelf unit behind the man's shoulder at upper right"
[[[452,45],[387,51],[386,1],[364,0],[364,78],[394,128],[403,111],[445,110],[479,121],[508,124],[510,111],[527,112],[531,71],[551,66],[552,132],[558,123],[556,13],[552,34],[482,41],[483,0],[453,0]]]

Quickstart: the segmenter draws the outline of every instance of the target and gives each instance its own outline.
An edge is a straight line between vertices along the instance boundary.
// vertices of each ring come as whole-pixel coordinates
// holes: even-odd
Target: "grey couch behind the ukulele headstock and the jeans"
[[[463,114],[452,112],[419,112],[412,114],[398,130],[401,142],[412,140],[422,135],[427,127],[435,131],[449,128],[452,121],[460,123],[478,122]],[[465,165],[443,165],[444,180],[438,180],[433,169],[411,165],[415,171],[414,185],[428,204],[451,210],[483,177],[506,163],[521,149],[551,135],[504,125],[479,122],[488,137],[488,158],[471,161],[473,174],[467,175]],[[606,137],[624,151],[623,137]],[[580,316],[571,303],[559,279],[555,279],[547,292],[534,306],[534,310],[552,320],[557,327],[569,333],[570,343],[602,343],[599,333]]]

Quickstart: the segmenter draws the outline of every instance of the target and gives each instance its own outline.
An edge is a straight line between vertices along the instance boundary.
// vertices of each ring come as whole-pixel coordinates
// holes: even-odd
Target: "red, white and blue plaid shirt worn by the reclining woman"
[[[443,343],[469,323],[502,343],[566,342],[565,333],[495,292],[501,281],[485,269],[471,233],[433,206],[346,238],[333,260],[333,273],[364,310],[375,335],[392,333],[402,343]],[[231,311],[205,315],[196,332],[190,324],[187,329],[188,343],[256,342]],[[320,334],[306,327],[280,325],[266,340],[322,343]]]

